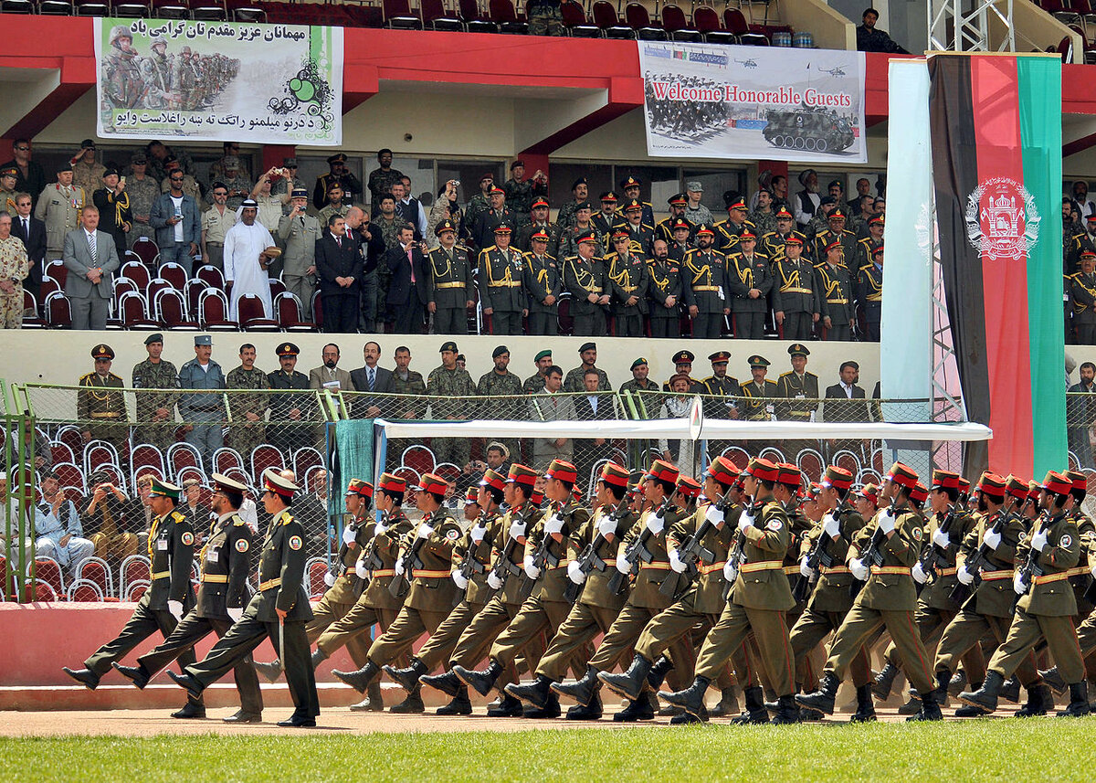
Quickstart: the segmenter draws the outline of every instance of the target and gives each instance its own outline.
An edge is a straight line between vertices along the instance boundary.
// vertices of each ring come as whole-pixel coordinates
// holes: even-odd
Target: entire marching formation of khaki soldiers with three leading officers
[[[1037,484],[985,472],[971,488],[937,469],[926,487],[895,463],[880,487],[854,487],[838,466],[804,486],[798,466],[764,458],[741,468],[719,456],[701,481],[655,459],[635,474],[606,463],[583,503],[575,466],[557,459],[543,476],[521,464],[506,475],[488,469],[468,490],[464,522],[444,506],[443,478],[424,474],[409,487],[383,474],[376,488],[350,481],[350,521],[328,590],[310,611],[299,532],[286,506],[296,488],[273,473],[264,478],[274,522],[259,592],[246,610],[238,597],[229,600],[236,614],[228,610],[224,620],[235,624],[212,626],[222,638],[209,656],[194,662],[193,644],[209,627],[192,616],[203,606],[207,575],[221,571],[206,570],[217,559],[207,545],[197,608],[182,619],[187,598],[182,588],[175,595],[173,576],[181,569],[157,560],[171,549],[190,563],[190,552],[174,552],[187,538],[175,529],[164,543],[160,532],[149,537],[153,587],[146,598],[155,603],[159,595],[165,608],[142,600],[130,621],[160,609],[152,615],[167,642],[137,667],[123,667],[117,659],[137,644],[132,633],[72,677],[93,688],[113,663],[144,686],[180,657],[182,673],[169,673],[187,689],[190,713],[204,714],[203,689],[235,668],[243,707],[231,719],[259,720],[247,656],[270,636],[278,638],[281,658],[254,666],[271,679],[285,672],[297,705],[279,724],[288,726],[316,725],[315,668],[343,646],[359,668],[333,673],[366,695],[351,707],[361,711],[384,710],[386,673],[407,692],[391,706],[396,713],[424,712],[426,685],[452,699],[438,715],[471,714],[471,688],[484,696],[498,691],[491,716],[557,717],[562,696],[574,702],[568,718],[597,719],[607,688],[627,702],[618,722],[663,714],[672,724],[712,716],[786,724],[832,714],[848,677],[852,720],[867,722],[899,672],[912,685],[900,711],[911,720],[941,719],[949,691],[962,702],[956,716],[989,715],[998,699],[1019,702],[1020,685],[1027,702],[1018,716],[1048,714],[1054,693],[1065,692],[1059,715],[1089,711],[1084,661],[1096,651],[1096,566],[1089,570],[1087,560],[1096,529],[1081,509],[1080,473],[1050,472]],[[220,520],[231,521],[238,488],[216,481],[229,498],[218,507]],[[403,513],[409,496],[419,522]],[[158,511],[155,530],[162,531],[171,509]],[[213,585],[241,581],[235,569],[246,574],[246,559],[230,563]],[[170,591],[167,583],[159,590],[161,579]],[[156,623],[141,622],[144,638]],[[383,633],[370,639],[376,624]],[[820,645],[831,634],[820,666]],[[884,634],[886,666],[872,674],[869,650]],[[720,692],[710,710],[709,688]],[[738,689],[744,708],[735,715]]]

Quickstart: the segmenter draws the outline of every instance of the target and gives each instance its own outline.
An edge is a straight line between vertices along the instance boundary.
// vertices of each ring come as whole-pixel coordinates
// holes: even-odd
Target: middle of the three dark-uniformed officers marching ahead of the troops
[[[171,661],[182,660],[184,654],[191,659],[183,661],[184,666],[193,662],[194,645],[210,633],[222,637],[243,616],[254,551],[254,533],[239,514],[248,488],[219,473],[212,478],[210,504],[217,517],[199,553],[198,595],[194,609],[162,644],[140,656],[137,666],[122,666],[117,661],[111,665],[137,688],[144,689]],[[236,665],[232,676],[240,693],[240,710],[224,718],[225,723],[262,723],[263,696],[250,657]]]

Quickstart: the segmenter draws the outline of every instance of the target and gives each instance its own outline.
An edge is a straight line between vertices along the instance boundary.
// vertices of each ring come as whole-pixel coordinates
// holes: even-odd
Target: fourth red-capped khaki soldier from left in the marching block
[[[491,598],[491,588],[487,577],[491,565],[491,551],[494,542],[500,541],[506,531],[502,527],[499,507],[505,492],[506,477],[488,468],[479,487],[468,488],[465,509],[476,509],[477,517],[471,527],[461,536],[453,551],[452,578],[458,590],[464,591],[464,598],[449,616],[445,619],[437,631],[430,635],[419,653],[411,657],[411,666],[397,669],[385,666],[385,673],[413,692],[420,686],[420,678],[429,674],[442,663],[447,663],[456,649],[460,635],[487,605]],[[468,686],[457,689],[453,701],[437,710],[438,715],[471,715],[472,704],[468,699]]]

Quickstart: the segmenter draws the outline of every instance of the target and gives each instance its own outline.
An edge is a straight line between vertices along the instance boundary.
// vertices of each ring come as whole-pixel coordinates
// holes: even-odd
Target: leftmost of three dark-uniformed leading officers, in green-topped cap
[[[95,690],[111,665],[122,660],[132,649],[159,631],[164,639],[171,636],[183,614],[194,608],[191,564],[194,561],[194,531],[185,514],[175,510],[179,487],[152,478],[149,506],[156,517],[148,534],[148,558],[151,585],[122,633],[100,647],[84,661],[83,669],[65,673],[77,682]],[[194,662],[194,651],[179,656],[182,666]],[[205,717],[202,694],[194,693],[186,706],[172,713],[176,718]]]

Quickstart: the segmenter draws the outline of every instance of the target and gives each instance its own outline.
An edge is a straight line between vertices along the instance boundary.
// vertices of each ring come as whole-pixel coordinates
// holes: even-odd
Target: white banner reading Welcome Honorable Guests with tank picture
[[[867,162],[863,52],[637,45],[649,155]]]

